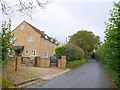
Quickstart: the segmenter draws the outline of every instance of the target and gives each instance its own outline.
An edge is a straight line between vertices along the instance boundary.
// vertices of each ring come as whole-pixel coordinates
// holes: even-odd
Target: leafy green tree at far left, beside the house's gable
[[[2,55],[2,62],[6,62],[9,59],[8,53],[12,49],[11,34],[11,20],[9,22],[3,22],[2,31],[0,32],[0,51]]]

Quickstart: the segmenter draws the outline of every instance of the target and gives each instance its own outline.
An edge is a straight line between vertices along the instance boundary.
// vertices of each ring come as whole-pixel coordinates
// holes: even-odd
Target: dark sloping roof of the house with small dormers
[[[39,33],[39,34],[41,35],[41,37],[43,37],[44,39],[50,41],[51,43],[54,43],[54,44],[58,45],[58,43],[56,43],[57,40],[56,40],[56,39],[53,39],[52,37],[50,37],[50,36],[48,36],[47,34],[45,34],[44,31],[41,31],[41,30],[37,29],[36,27],[34,27],[33,25],[29,24],[29,23],[26,22],[26,21],[23,21],[23,22],[27,23],[30,27],[32,27],[32,28],[33,28],[37,33]],[[22,22],[22,23],[23,23],[23,22]],[[21,24],[22,24],[22,23],[21,23]],[[21,24],[20,24],[20,25],[21,25]]]

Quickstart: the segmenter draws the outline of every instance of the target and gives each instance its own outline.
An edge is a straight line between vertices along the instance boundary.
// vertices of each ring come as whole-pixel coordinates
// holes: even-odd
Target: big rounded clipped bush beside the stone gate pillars
[[[55,49],[57,58],[66,56],[67,61],[80,60],[84,58],[84,51],[74,44],[67,44]]]

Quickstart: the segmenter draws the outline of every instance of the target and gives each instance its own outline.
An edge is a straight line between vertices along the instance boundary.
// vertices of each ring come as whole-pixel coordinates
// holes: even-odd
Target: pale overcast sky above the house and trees
[[[2,15],[1,21],[11,18],[12,30],[27,21],[62,44],[66,37],[80,30],[92,31],[103,42],[105,22],[110,17],[113,1],[119,0],[53,0],[46,9],[34,12],[32,19],[16,13]]]

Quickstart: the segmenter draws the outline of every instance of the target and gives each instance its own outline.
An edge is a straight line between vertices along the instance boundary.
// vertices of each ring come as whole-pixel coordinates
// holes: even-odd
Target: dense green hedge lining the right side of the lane
[[[115,81],[117,86],[120,88],[120,60],[117,57],[117,53],[117,49],[110,48],[106,42],[98,47],[95,53],[95,57],[99,62],[103,64],[109,75],[112,77],[113,81]]]

